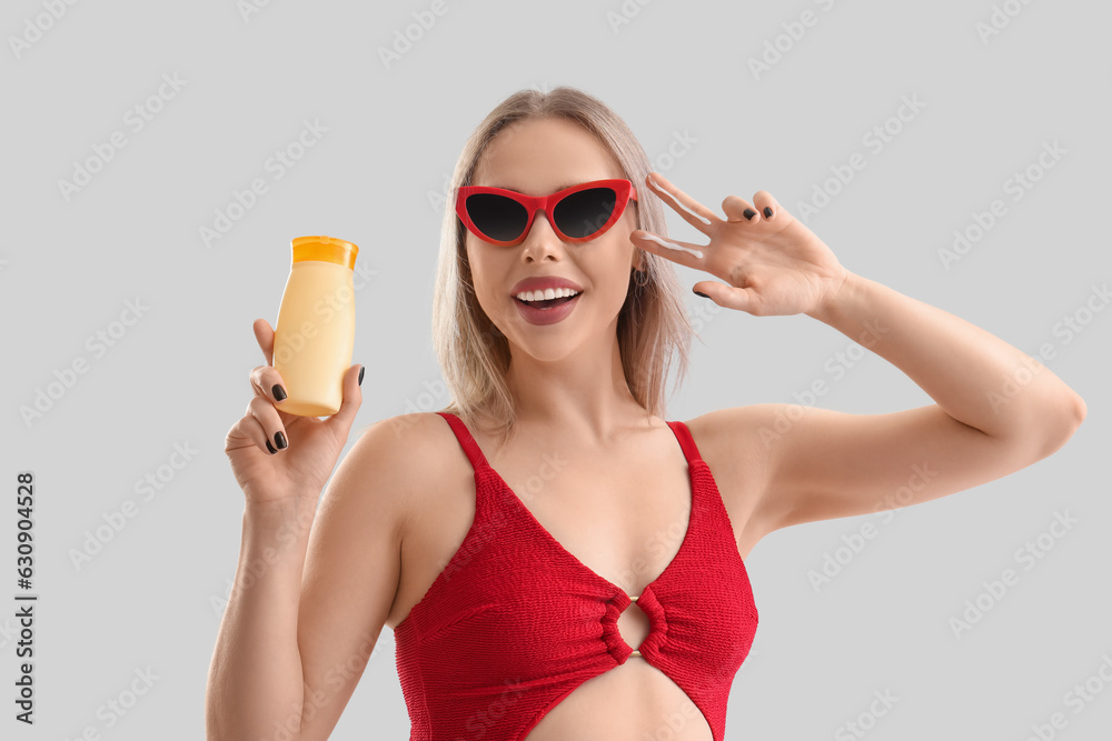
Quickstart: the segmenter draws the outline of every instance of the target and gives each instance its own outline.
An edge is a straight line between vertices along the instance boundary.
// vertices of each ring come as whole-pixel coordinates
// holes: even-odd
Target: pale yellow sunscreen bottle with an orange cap
[[[286,387],[276,409],[335,414],[355,346],[353,269],[359,248],[334,237],[298,237],[275,327],[274,367]]]

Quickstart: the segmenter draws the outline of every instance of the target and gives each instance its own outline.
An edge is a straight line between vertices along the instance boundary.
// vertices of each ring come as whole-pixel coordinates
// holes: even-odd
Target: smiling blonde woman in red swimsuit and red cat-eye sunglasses
[[[389,625],[414,739],[722,741],[761,538],[1001,478],[1085,415],[1015,348],[847,271],[768,192],[718,214],[651,173],[582,91],[510,96],[453,187],[434,296],[453,404],[368,428],[319,510],[364,369],[331,418],[286,414],[274,332],[255,323],[267,364],[227,437],[246,507],[209,739],[328,738]],[[664,206],[708,243],[668,240]],[[717,279],[699,300],[823,321],[935,403],[665,421],[692,333],[672,262]],[[916,467],[933,474],[893,500]]]

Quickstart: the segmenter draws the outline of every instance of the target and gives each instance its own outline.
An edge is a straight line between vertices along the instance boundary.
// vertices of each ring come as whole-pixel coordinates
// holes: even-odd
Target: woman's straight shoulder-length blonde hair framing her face
[[[453,402],[445,408],[468,427],[479,415],[500,421],[493,432],[502,444],[516,431],[513,397],[506,382],[509,346],[506,337],[479,307],[465,248],[466,228],[455,212],[456,188],[471,184],[479,158],[507,126],[528,119],[559,118],[580,124],[594,134],[637,187],[638,201],[629,201],[638,229],[667,236],[664,208],[644,187],[652,171],[648,157],[633,132],[600,100],[570,87],[549,92],[519,90],[499,103],[468,138],[451,176],[440,229],[433,294],[433,342]],[[641,193],[645,193],[641,196]],[[643,274],[629,273],[629,289],[618,313],[617,339],[626,383],[648,414],[665,415],[665,380],[673,353],[679,354],[676,387],[687,372],[694,332],[681,298],[671,261],[642,250]],[[644,284],[642,284],[644,283]]]

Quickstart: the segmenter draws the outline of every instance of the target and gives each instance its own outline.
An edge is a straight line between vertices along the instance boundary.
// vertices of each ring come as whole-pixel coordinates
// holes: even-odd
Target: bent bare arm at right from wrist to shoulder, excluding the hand
[[[936,403],[887,414],[755,404],[705,415],[707,434],[767,457],[761,531],[939,499],[1050,455],[1085,417],[1070,387],[941,309],[850,273],[812,314],[905,372]]]

